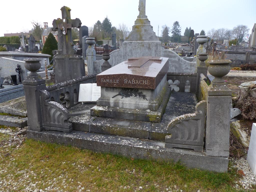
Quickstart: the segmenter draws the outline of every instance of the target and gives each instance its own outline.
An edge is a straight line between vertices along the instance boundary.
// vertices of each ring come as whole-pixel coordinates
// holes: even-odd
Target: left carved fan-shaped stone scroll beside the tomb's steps
[[[40,93],[44,129],[72,132],[72,123],[68,122],[70,118],[68,110],[63,105],[51,101],[48,91],[42,90]]]

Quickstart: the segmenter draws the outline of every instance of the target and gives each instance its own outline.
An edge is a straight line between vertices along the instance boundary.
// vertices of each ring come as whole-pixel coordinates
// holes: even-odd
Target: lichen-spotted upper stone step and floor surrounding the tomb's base
[[[166,104],[167,103],[167,104]],[[118,135],[134,138],[144,138],[156,141],[165,141],[168,123],[177,116],[194,113],[197,104],[196,95],[188,92],[172,92],[169,99],[159,107],[166,105],[161,122],[135,121],[113,118],[103,118],[90,115],[90,108],[95,103],[79,103],[69,109],[69,122],[73,130]]]

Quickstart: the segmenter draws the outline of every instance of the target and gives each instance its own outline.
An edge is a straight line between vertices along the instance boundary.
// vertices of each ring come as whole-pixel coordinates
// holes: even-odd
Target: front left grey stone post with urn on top
[[[28,130],[42,131],[42,109],[40,102],[40,90],[46,89],[45,80],[39,78],[37,70],[40,69],[40,59],[24,59],[25,68],[30,71],[27,78],[23,81],[26,97]]]

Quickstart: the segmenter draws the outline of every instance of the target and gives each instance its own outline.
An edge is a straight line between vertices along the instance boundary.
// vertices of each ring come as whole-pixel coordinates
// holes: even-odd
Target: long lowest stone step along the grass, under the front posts
[[[189,168],[198,168],[216,172],[226,172],[227,157],[206,156],[198,152],[182,148],[165,148],[165,142],[138,139],[134,137],[103,135],[83,131],[63,133],[59,131],[27,131],[27,137],[47,143],[71,145],[94,152],[112,153],[135,159],[178,162]],[[209,166],[209,164],[211,166]]]

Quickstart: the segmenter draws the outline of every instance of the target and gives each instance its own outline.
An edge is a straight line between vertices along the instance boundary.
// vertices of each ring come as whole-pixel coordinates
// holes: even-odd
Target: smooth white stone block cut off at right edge
[[[256,175],[256,123],[252,124],[252,132],[247,155],[247,161],[252,168],[254,175]]]

